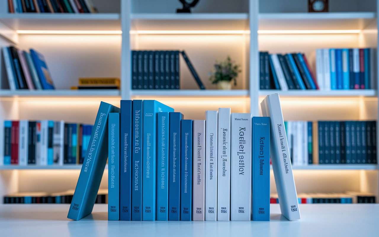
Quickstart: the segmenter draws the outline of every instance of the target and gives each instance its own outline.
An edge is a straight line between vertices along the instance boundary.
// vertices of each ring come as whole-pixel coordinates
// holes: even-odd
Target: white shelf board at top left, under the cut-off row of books
[[[8,13],[0,21],[13,30],[121,30],[118,13]]]

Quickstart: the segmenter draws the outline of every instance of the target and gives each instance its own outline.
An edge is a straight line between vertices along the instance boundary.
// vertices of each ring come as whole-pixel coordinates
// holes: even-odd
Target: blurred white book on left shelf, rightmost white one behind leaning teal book
[[[55,121],[53,130],[53,163],[63,165],[64,161],[64,121]]]

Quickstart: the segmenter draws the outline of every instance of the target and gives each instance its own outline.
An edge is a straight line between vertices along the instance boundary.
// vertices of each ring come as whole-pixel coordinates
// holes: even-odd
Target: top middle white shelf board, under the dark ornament
[[[247,13],[131,14],[131,30],[248,30]]]

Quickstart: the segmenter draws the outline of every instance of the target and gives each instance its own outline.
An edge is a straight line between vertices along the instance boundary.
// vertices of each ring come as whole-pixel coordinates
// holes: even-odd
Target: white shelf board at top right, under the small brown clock
[[[374,12],[260,13],[259,30],[362,30]]]

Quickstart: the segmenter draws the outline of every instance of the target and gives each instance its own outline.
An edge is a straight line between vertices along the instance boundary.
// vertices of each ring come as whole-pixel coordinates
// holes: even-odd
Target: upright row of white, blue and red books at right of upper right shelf
[[[375,49],[316,49],[316,76],[319,88],[376,88]]]

